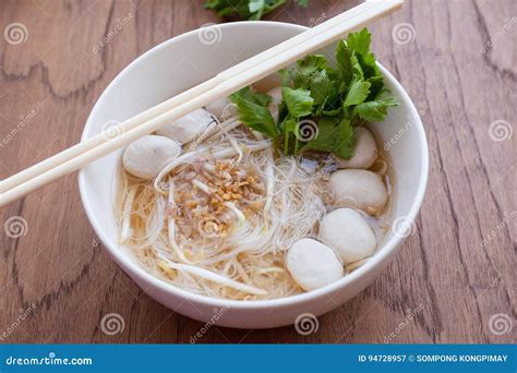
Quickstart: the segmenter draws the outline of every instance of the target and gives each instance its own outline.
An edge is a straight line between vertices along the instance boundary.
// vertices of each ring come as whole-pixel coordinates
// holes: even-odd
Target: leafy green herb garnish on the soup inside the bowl
[[[349,34],[336,49],[336,63],[310,55],[296,68],[281,70],[279,119],[275,121],[270,97],[249,87],[230,96],[240,120],[251,129],[278,140],[285,155],[305,151],[332,153],[349,159],[354,151],[354,127],[381,122],[398,103],[386,97],[381,71],[370,51],[366,28]]]

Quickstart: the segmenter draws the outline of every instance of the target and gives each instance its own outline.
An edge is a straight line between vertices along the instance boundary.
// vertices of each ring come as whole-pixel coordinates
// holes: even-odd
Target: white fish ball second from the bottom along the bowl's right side
[[[325,215],[320,240],[333,248],[345,264],[371,256],[377,245],[373,229],[351,208],[337,208]]]

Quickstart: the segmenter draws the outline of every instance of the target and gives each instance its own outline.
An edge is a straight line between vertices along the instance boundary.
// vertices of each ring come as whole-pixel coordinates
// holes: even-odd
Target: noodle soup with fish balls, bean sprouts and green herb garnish
[[[373,55],[353,50],[357,35],[337,51],[360,57],[350,80],[309,56],[281,86],[219,99],[124,151],[120,243],[147,272],[261,300],[324,287],[374,255],[389,228],[389,169],[365,124],[396,103],[361,67]],[[322,76],[324,97],[311,88]]]

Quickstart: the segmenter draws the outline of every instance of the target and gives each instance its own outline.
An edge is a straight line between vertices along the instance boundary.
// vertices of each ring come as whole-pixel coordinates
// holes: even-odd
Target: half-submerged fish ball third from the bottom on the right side
[[[378,215],[387,201],[387,190],[381,176],[366,170],[338,170],[330,175],[334,205],[354,207]]]

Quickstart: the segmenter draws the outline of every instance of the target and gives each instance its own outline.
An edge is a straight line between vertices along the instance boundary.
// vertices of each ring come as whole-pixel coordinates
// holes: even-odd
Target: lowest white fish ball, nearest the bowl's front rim
[[[304,238],[287,252],[287,270],[294,281],[310,291],[337,281],[345,276],[339,258],[327,245]]]

